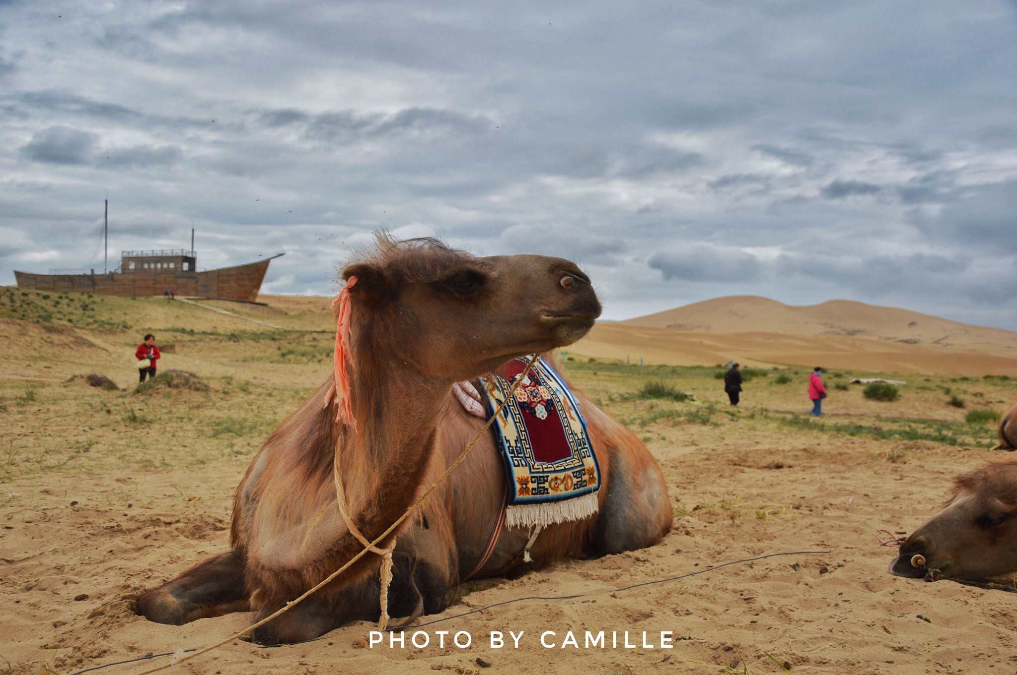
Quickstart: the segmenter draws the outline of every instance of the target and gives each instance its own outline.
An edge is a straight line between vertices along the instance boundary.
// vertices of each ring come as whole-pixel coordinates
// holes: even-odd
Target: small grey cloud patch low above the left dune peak
[[[691,244],[650,256],[647,264],[665,279],[682,281],[753,281],[760,278],[759,258],[735,247]]]

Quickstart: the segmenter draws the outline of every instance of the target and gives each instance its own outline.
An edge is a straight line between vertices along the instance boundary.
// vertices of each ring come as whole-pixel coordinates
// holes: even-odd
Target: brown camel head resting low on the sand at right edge
[[[1017,571],[1017,462],[990,462],[954,479],[953,496],[890,563],[897,577],[973,581]]]

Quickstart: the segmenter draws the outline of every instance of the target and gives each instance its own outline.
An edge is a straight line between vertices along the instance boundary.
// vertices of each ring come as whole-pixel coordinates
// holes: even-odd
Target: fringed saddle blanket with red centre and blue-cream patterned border
[[[528,361],[513,359],[481,378],[488,417]],[[511,486],[506,527],[546,526],[597,513],[600,467],[586,419],[547,361],[537,358],[492,426]]]

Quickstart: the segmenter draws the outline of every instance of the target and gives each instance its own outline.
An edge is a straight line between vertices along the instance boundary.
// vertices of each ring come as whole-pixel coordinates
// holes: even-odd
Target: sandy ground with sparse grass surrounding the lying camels
[[[267,307],[214,302],[236,316],[161,298],[93,306],[96,298],[68,295],[59,307],[54,299],[33,299],[35,310],[17,305],[19,315],[5,310],[7,318],[0,319],[0,655],[13,673],[47,668],[67,675],[200,648],[243,628],[249,614],[154,624],[135,616],[132,603],[140,591],[226,548],[233,490],[247,464],[272,428],[326,377],[334,330],[327,298],[268,297]],[[36,323],[43,310],[49,321]],[[173,345],[163,368],[192,372],[208,391],[135,393],[130,354],[146,331]],[[814,338],[858,339],[767,339],[783,340],[779,353],[791,354]],[[704,347],[707,364],[721,361],[726,344]],[[845,365],[827,376],[831,397],[819,425],[800,416],[810,407],[809,368],[792,360],[756,374],[741,406],[732,409],[713,367],[625,365],[584,348],[566,350],[569,375],[660,462],[675,509],[671,534],[645,550],[470,583],[445,612],[421,620],[527,596],[599,595],[527,600],[424,626],[419,629],[431,638],[424,649],[410,646],[410,632],[406,648],[359,648],[373,627],[360,623],[304,645],[261,649],[237,642],[169,672],[1017,670],[1017,596],[891,577],[886,567],[894,549],[879,546],[874,536],[879,529],[893,536],[912,531],[935,513],[953,475],[1009,457],[989,450],[991,424],[964,421],[971,410],[999,411],[1017,402],[1017,381],[972,377],[1006,375],[1004,356],[964,352],[990,359],[972,376],[952,375],[953,365],[901,367],[894,379],[908,386],[900,398],[878,402],[847,384],[871,363],[863,350],[845,349]],[[707,349],[718,356],[707,358]],[[853,366],[846,364],[850,358],[857,359]],[[74,377],[89,373],[110,377],[120,389],[88,387]],[[778,375],[789,382],[778,382]],[[651,380],[694,392],[700,401],[641,398]],[[951,397],[964,407],[948,405]],[[805,552],[709,569],[789,551]],[[443,649],[435,646],[436,630],[451,631]],[[524,632],[519,649],[512,648],[510,630]],[[556,645],[551,649],[540,644],[547,630],[556,633],[546,637]],[[607,647],[585,649],[587,630],[606,631]],[[469,648],[451,645],[457,631],[471,633]],[[490,631],[503,632],[506,647],[492,649]],[[561,647],[567,631],[580,648]],[[623,648],[625,631],[636,648]],[[662,648],[661,631],[671,632],[673,648]],[[169,661],[93,672],[126,675]]]

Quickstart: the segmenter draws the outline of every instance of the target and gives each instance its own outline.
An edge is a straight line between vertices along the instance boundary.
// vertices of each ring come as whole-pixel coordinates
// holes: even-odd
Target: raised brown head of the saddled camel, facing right
[[[370,360],[453,383],[511,358],[572,344],[600,301],[576,263],[547,256],[478,258],[434,239],[374,247],[343,269],[353,367]]]

